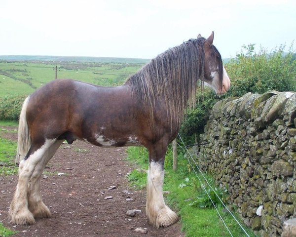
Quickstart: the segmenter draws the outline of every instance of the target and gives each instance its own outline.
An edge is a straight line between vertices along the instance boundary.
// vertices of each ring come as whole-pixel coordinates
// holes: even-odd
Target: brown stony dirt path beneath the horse
[[[17,136],[1,135],[14,140]],[[135,167],[124,161],[125,157],[125,148],[98,148],[81,141],[63,144],[45,169],[47,178],[42,175],[41,180],[43,202],[52,216],[37,219],[32,226],[8,224],[7,211],[17,175],[0,176],[0,221],[19,231],[14,237],[183,237],[180,223],[158,230],[148,224],[146,191],[129,187],[126,174]],[[58,176],[58,172],[65,174]],[[116,188],[108,190],[112,185]],[[108,196],[112,198],[105,199]],[[126,216],[128,209],[140,209],[142,214]],[[136,233],[138,227],[147,228],[148,234]]]

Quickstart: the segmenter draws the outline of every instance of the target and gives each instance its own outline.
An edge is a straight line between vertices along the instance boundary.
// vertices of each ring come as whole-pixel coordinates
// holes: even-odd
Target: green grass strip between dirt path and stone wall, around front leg
[[[129,148],[127,159],[137,163],[140,168],[148,169],[148,153],[144,148]],[[204,190],[201,188],[195,173],[190,171],[184,156],[180,155],[178,157],[179,167],[176,172],[172,170],[172,153],[170,150],[165,160],[163,190],[168,192],[164,192],[164,197],[167,204],[181,216],[182,229],[185,231],[186,237],[229,236],[216,210],[209,205],[209,200],[206,198]],[[146,172],[134,170],[128,178],[131,181],[131,185],[135,186],[135,188],[144,189],[146,187]],[[208,176],[207,178],[213,183],[211,177]],[[221,197],[223,197],[223,191],[217,190]],[[201,206],[206,208],[201,208]],[[233,236],[245,236],[231,215],[228,212],[223,212],[223,207],[219,204],[218,210]],[[235,210],[233,212],[235,213]],[[235,213],[235,216],[239,219],[237,213]],[[256,237],[252,230],[245,225],[243,226],[250,237]]]

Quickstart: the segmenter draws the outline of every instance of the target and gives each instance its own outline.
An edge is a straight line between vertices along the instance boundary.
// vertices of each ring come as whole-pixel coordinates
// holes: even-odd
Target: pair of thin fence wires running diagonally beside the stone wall
[[[207,178],[204,176],[203,172],[200,170],[200,168],[199,168],[199,166],[197,165],[196,161],[194,160],[194,158],[193,158],[193,157],[191,156],[191,154],[189,153],[189,151],[188,151],[187,147],[185,146],[185,143],[184,143],[184,141],[183,141],[183,139],[182,139],[182,137],[180,136],[179,133],[178,133],[178,136],[179,136],[181,142],[183,143],[184,148],[183,148],[179,143],[177,143],[178,146],[179,146],[181,149],[183,149],[183,151],[185,152],[185,154],[187,153],[187,154],[189,155],[190,159],[189,159],[188,156],[185,156],[185,157],[187,158],[189,165],[191,166],[192,170],[194,171],[196,177],[198,178],[198,180],[199,180],[199,182],[200,182],[200,184],[201,184],[201,187],[204,189],[205,193],[206,193],[207,196],[210,198],[210,200],[211,200],[213,206],[215,207],[215,209],[216,209],[216,211],[217,211],[219,217],[220,217],[221,220],[222,220],[223,225],[225,226],[225,228],[226,228],[227,231],[229,232],[229,235],[230,235],[231,237],[233,237],[231,231],[229,230],[229,228],[227,227],[225,221],[223,220],[223,218],[222,218],[222,216],[221,216],[221,214],[220,214],[220,212],[219,212],[217,206],[215,205],[213,199],[211,198],[210,194],[209,194],[208,191],[206,190],[206,188],[205,188],[205,187],[206,187],[205,183],[210,187],[210,189],[211,189],[211,190],[214,192],[214,194],[218,197],[218,199],[219,199],[220,202],[222,203],[223,207],[224,207],[224,208],[228,211],[228,213],[232,216],[232,218],[235,220],[235,222],[239,225],[239,227],[242,229],[242,231],[246,234],[246,236],[247,236],[247,237],[250,237],[250,236],[248,235],[248,233],[245,231],[245,229],[243,228],[243,226],[239,223],[239,221],[235,218],[235,216],[231,213],[231,211],[227,208],[227,206],[225,205],[225,203],[222,201],[222,199],[221,199],[221,198],[219,197],[219,195],[216,193],[215,189],[211,186],[211,184],[209,183],[209,181],[207,180]],[[195,171],[195,168],[194,168],[194,165],[193,165],[193,164],[195,165],[197,171],[200,173],[200,175],[201,175],[202,178],[204,179],[204,182],[205,182],[205,183],[203,183],[203,181],[202,181],[201,178],[200,178],[200,175],[198,175],[197,172]]]

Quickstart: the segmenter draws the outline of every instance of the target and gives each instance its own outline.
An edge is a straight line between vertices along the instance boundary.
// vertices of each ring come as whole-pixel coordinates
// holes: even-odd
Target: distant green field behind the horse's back
[[[31,94],[36,88],[55,79],[76,79],[96,85],[122,84],[144,64],[83,62],[8,62],[0,61],[0,98],[6,95]]]

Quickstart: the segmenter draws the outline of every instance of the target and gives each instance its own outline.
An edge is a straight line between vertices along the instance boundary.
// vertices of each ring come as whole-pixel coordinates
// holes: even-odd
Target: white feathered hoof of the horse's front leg
[[[149,214],[147,214],[147,216],[149,218],[149,223],[156,228],[173,225],[179,220],[178,215],[167,205],[158,211],[153,210],[153,213],[151,213],[151,210],[148,212]]]

